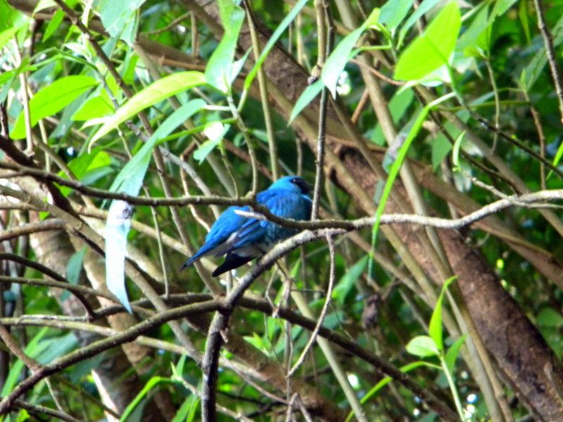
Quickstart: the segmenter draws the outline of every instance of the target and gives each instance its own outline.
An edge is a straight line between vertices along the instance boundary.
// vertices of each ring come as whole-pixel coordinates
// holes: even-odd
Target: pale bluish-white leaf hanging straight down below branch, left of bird
[[[106,285],[128,312],[132,311],[125,289],[125,256],[132,214],[131,205],[122,200],[114,200],[110,205],[103,233],[106,240]]]

